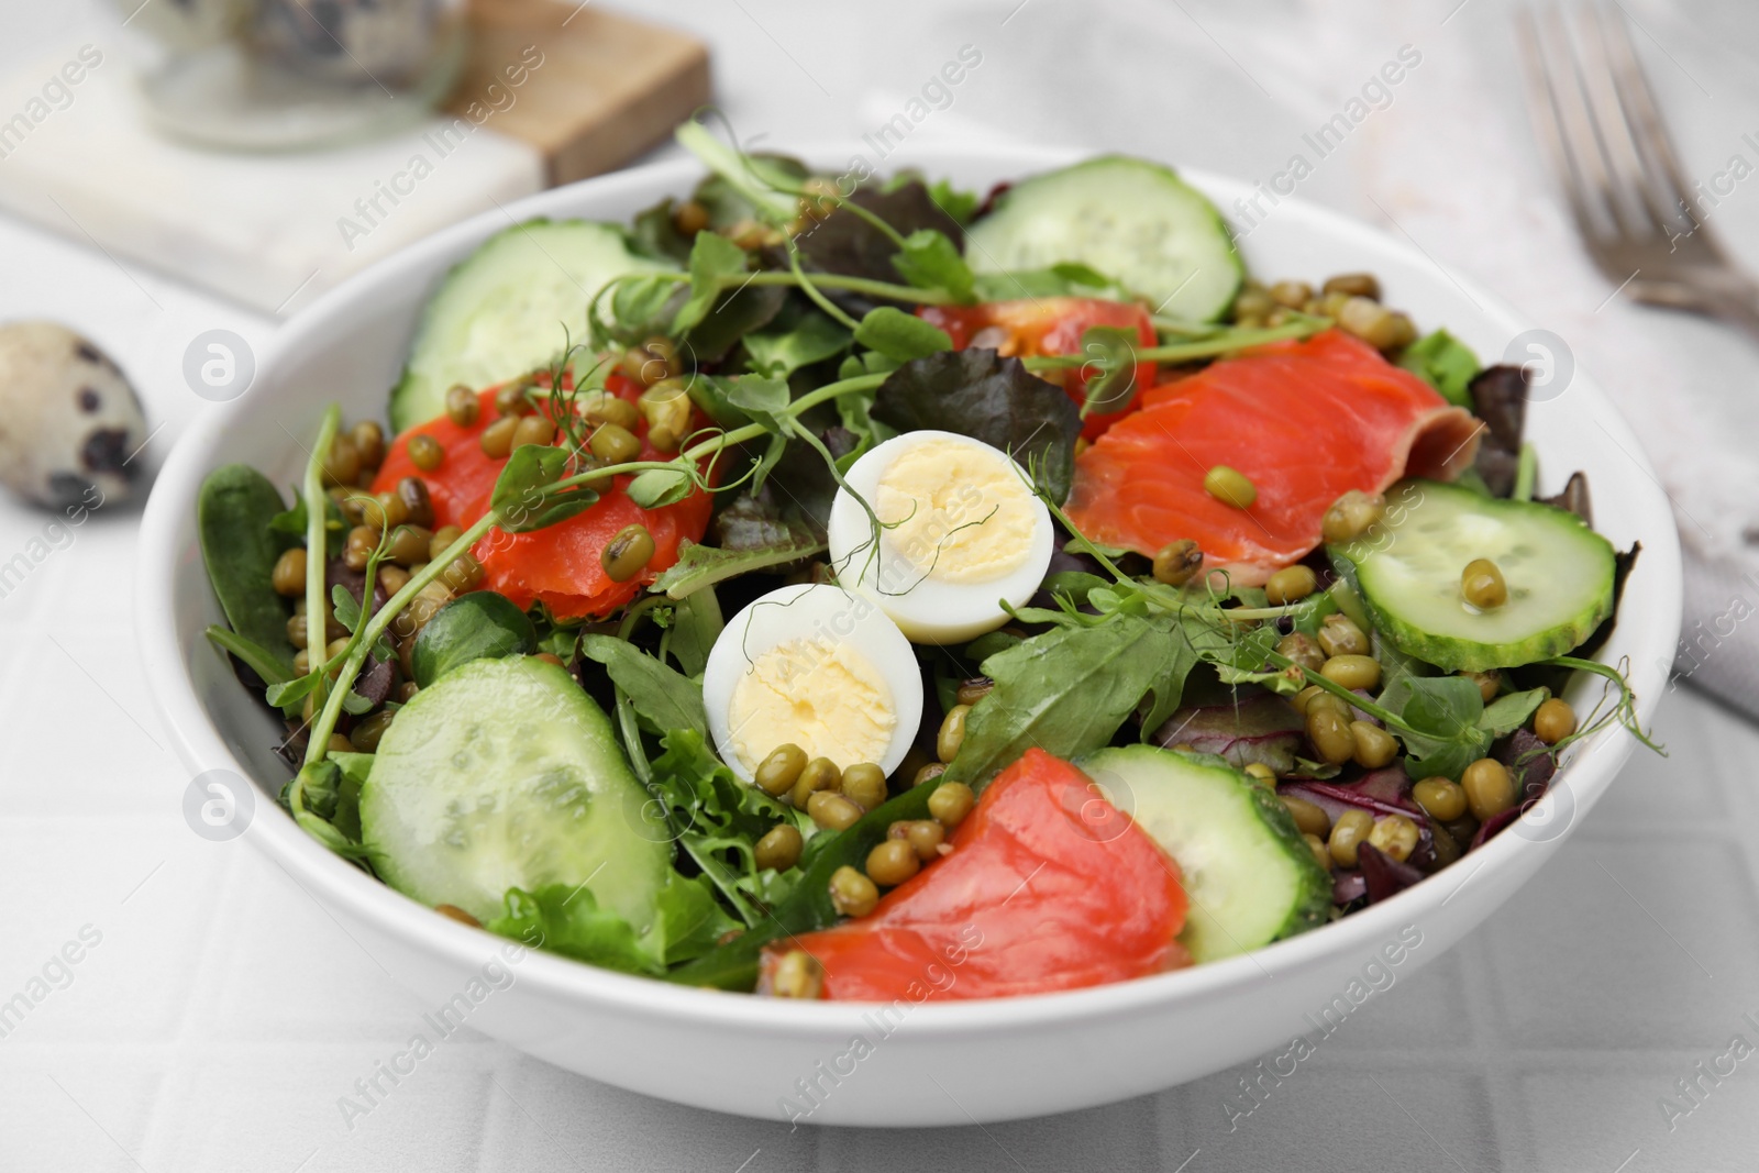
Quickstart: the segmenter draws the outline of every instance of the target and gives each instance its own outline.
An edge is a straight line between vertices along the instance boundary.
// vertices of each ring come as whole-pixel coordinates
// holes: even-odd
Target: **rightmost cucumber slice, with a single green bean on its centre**
[[[1404,480],[1386,519],[1328,547],[1353,575],[1374,626],[1407,656],[1448,672],[1514,668],[1562,656],[1613,614],[1613,543],[1567,510]],[[1474,557],[1502,570],[1509,601],[1476,610],[1460,594]]]

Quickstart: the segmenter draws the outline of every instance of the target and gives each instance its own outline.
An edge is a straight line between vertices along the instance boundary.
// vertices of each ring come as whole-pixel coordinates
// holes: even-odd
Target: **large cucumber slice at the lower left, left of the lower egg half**
[[[378,742],[361,837],[380,878],[480,922],[508,888],[591,885],[642,936],[670,846],[665,821],[563,668],[475,659],[424,688]]]

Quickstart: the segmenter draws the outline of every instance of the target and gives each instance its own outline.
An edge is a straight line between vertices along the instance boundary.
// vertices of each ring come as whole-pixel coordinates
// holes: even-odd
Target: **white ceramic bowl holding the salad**
[[[813,157],[836,162],[841,151]],[[987,188],[1071,158],[1071,151],[974,149],[920,151],[908,162]],[[894,157],[887,165],[902,162]],[[626,220],[661,195],[688,192],[698,174],[691,162],[656,164],[545,192],[508,211]],[[1187,178],[1223,209],[1251,195],[1237,181]],[[466,992],[468,1024],[478,1031],[609,1083],[751,1117],[929,1126],[1103,1104],[1282,1055],[1296,1034],[1317,1034],[1326,1013],[1347,1013],[1384,981],[1377,967],[1390,965],[1386,950],[1400,936],[1407,946],[1393,948],[1400,976],[1441,955],[1550,858],[1632,751],[1624,732],[1601,733],[1514,828],[1390,900],[1245,957],[1122,985],[880,1015],[864,1004],[741,997],[519,955],[369,879],[274,804],[287,777],[269,749],[276,725],[202,637],[220,612],[193,528],[197,487],[215,466],[248,461],[276,484],[292,484],[301,441],[315,433],[324,404],[339,399],[350,419],[382,417],[424,299],[450,264],[507,223],[501,213],[485,213],[440,232],[288,322],[273,353],[262,355],[255,387],[211,408],[165,464],[146,508],[137,584],[148,679],[190,774],[223,769],[250,777],[259,793],[243,837],[433,1006]],[[1446,325],[1486,361],[1532,325],[1407,244],[1300,200],[1284,200],[1242,248],[1266,276],[1377,273],[1390,304],[1425,329]],[[1646,723],[1680,626],[1680,554],[1668,501],[1636,436],[1581,371],[1562,394],[1532,404],[1529,429],[1541,452],[1543,491],[1555,492],[1573,470],[1585,470],[1597,528],[1618,547],[1643,542],[1602,656],[1629,663]],[[1578,709],[1599,695],[1585,679],[1576,688]],[[1409,948],[1412,941],[1420,943]],[[505,965],[512,981],[471,1002],[471,978],[491,962]],[[806,1089],[814,1089],[811,1097]]]

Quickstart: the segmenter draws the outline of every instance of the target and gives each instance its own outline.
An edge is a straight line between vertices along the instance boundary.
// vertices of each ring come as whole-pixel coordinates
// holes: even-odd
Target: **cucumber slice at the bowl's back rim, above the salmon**
[[[976,273],[1078,262],[1145,297],[1154,313],[1208,322],[1245,267],[1221,213],[1170,167],[1124,155],[1025,179],[971,225]]]

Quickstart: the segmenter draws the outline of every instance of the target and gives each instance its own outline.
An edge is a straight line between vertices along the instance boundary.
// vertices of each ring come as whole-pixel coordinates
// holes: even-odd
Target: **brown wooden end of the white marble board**
[[[471,0],[470,23],[447,109],[468,118],[515,93],[491,125],[536,148],[552,186],[626,164],[709,100],[709,49],[670,28],[573,0]]]

